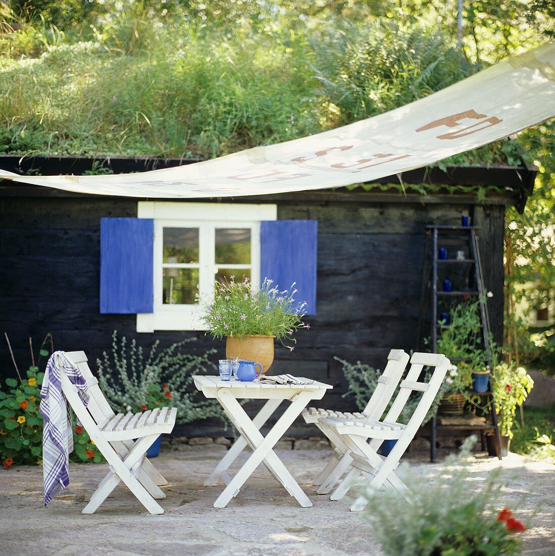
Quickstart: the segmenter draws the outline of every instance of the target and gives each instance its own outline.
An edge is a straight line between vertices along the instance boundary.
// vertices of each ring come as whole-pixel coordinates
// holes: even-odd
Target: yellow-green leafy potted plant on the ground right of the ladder
[[[534,381],[523,367],[501,363],[493,368],[493,399],[501,434],[501,455],[509,452],[517,406],[526,400]]]

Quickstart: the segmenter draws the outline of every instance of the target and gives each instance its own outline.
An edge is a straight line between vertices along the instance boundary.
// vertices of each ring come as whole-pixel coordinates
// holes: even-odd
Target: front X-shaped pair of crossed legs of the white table
[[[225,508],[227,503],[239,492],[241,486],[254,472],[257,466],[259,466],[262,461],[266,460],[266,464],[271,470],[272,475],[285,486],[289,494],[294,496],[303,508],[310,508],[312,503],[309,498],[272,448],[281,436],[285,434],[285,431],[291,426],[295,418],[303,411],[306,404],[311,399],[311,394],[309,392],[301,392],[294,396],[291,405],[285,410],[284,414],[281,415],[266,437],[262,436],[230,391],[222,388],[219,391],[218,399],[226,409],[226,413],[229,412],[235,416],[235,419],[241,426],[242,434],[245,434],[245,436],[247,436],[247,441],[256,446],[256,448],[234,478],[231,479],[229,485],[226,486],[224,491],[216,499],[214,507]]]

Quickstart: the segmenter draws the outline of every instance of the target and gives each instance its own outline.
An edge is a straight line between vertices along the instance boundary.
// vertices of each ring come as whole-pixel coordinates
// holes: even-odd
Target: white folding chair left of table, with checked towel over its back
[[[166,498],[160,485],[167,484],[167,481],[146,458],[146,450],[158,435],[171,433],[177,409],[156,408],[144,413],[116,415],[88,367],[85,353],[70,351],[66,355],[77,365],[87,381],[90,394],[87,408],[83,405],[76,386],[62,373],[63,394],[110,465],[110,472],[102,479],[82,513],[94,513],[118,483],[123,481],[151,514],[162,514],[163,509],[155,499]]]

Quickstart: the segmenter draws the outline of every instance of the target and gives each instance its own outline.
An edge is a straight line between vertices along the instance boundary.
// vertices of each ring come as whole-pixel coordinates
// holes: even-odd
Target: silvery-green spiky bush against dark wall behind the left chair
[[[223,419],[220,405],[214,400],[199,400],[192,386],[192,376],[215,372],[215,365],[208,356],[182,353],[181,349],[195,338],[186,338],[157,352],[159,341],[148,355],[135,340],[127,347],[127,339],[118,342],[117,330],[112,333],[112,354],[103,353],[97,359],[98,384],[115,411],[152,410],[165,406],[177,408],[177,423],[185,424],[197,419],[219,417]]]

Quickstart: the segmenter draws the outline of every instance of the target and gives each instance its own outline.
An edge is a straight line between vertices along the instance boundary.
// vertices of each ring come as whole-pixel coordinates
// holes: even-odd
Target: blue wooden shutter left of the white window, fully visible
[[[153,311],[154,220],[100,219],[100,312]]]

